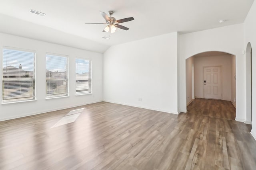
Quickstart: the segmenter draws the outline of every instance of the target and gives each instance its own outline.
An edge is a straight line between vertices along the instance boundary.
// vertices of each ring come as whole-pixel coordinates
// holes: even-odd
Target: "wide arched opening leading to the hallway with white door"
[[[209,75],[213,78],[209,80],[212,82],[218,80],[218,85],[212,84],[207,91],[209,80],[206,80],[205,72],[211,69],[217,70],[218,74],[211,72]],[[214,79],[215,75],[217,79]],[[218,97],[209,96],[208,92],[218,92]],[[206,51],[186,59],[186,99],[189,113],[208,114],[234,120],[236,117],[236,57],[226,52]],[[212,104],[210,106],[212,109],[206,108],[209,104]]]

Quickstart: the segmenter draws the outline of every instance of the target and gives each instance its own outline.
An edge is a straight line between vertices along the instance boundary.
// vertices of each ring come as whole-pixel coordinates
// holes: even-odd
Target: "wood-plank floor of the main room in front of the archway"
[[[76,121],[53,127],[69,111]],[[0,122],[0,169],[254,170],[256,141],[234,120],[100,102]]]

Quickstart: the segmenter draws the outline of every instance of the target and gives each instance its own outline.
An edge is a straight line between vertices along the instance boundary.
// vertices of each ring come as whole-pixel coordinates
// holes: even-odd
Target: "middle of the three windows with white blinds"
[[[46,55],[46,98],[68,96],[68,57]]]

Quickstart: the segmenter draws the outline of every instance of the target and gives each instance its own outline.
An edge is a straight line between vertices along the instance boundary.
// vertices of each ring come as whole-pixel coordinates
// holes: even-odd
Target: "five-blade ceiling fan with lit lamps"
[[[102,32],[116,32],[116,28],[128,30],[129,28],[119,25],[118,23],[128,22],[134,20],[133,17],[130,18],[124,18],[121,20],[116,20],[116,18],[112,17],[113,11],[108,11],[108,16],[105,12],[100,12],[100,14],[103,16],[103,18],[106,20],[106,22],[100,22],[100,23],[85,23],[85,24],[107,24],[107,26],[103,29]]]

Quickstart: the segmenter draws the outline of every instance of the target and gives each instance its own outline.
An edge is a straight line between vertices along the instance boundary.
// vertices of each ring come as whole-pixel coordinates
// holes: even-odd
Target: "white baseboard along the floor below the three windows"
[[[38,114],[48,113],[50,111],[69,109],[69,108],[72,108],[72,107],[84,106],[84,105],[87,105],[87,104],[93,104],[93,103],[98,103],[98,102],[103,102],[103,100],[94,101],[94,102],[88,102],[88,103],[85,103],[85,104],[82,104],[82,105],[74,105],[74,106],[68,106],[68,107],[59,107],[59,108],[56,108],[56,109],[49,109],[49,110],[45,110],[45,111],[42,111],[42,112],[28,113],[26,115],[16,115],[16,116],[11,116],[11,117],[5,117],[3,119],[0,119],[0,121],[10,120],[10,119],[17,119],[17,118],[27,117],[27,116],[32,116],[32,115],[38,115]]]

